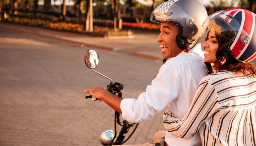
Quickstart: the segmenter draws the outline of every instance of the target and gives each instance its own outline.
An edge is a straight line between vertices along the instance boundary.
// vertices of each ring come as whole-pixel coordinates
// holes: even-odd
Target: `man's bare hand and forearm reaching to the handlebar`
[[[123,100],[122,98],[117,97],[102,87],[91,88],[89,90],[84,90],[84,92],[90,93],[93,97],[99,99],[99,101],[103,100],[108,106],[112,107],[117,112],[122,113],[120,108],[121,101]]]

